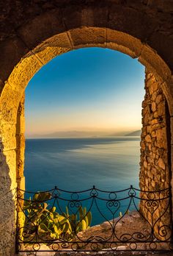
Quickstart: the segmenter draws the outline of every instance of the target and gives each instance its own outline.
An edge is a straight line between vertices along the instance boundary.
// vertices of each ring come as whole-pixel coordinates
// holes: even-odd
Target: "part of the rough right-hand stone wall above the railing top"
[[[149,188],[150,191],[158,191],[170,186],[170,138],[166,132],[166,119],[169,118],[169,113],[161,85],[149,71],[146,71],[145,92],[142,102],[139,182],[140,188],[144,191],[148,191]]]

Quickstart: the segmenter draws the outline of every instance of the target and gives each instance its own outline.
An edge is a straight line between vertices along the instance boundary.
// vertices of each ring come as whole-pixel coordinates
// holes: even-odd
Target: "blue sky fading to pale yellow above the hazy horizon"
[[[141,129],[144,66],[111,49],[86,48],[44,65],[26,88],[26,137],[59,131]]]

